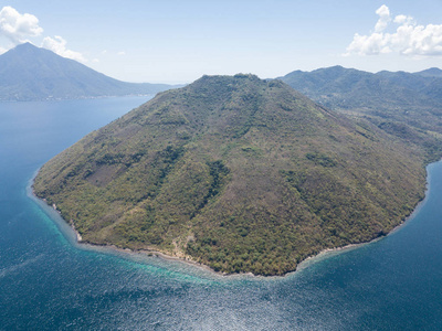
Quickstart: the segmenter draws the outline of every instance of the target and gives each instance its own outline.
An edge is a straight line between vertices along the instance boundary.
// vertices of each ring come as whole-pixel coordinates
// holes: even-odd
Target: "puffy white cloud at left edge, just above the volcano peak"
[[[32,14],[19,13],[12,7],[3,7],[0,11],[0,34],[11,40],[14,44],[25,42],[30,36],[42,34],[39,19]]]

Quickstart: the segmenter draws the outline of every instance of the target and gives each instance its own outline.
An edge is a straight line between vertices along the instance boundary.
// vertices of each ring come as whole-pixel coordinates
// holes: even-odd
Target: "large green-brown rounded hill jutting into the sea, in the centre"
[[[204,76],[83,138],[34,190],[84,241],[282,275],[388,233],[423,197],[423,156],[386,137],[282,82]]]

